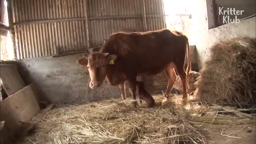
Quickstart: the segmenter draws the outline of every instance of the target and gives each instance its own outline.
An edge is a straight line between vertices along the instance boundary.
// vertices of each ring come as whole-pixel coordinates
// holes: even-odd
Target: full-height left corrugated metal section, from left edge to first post
[[[18,59],[86,48],[86,1],[14,0]]]

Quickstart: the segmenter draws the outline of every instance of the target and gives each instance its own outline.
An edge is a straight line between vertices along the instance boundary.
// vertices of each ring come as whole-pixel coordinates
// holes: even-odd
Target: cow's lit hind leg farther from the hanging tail
[[[176,78],[177,78],[177,75],[175,73],[174,67],[175,67],[174,63],[170,63],[165,68],[165,75],[168,78],[168,85],[167,85],[167,89],[166,89],[166,91],[164,93],[164,98],[169,97],[169,94],[172,91],[174,82],[176,81]]]

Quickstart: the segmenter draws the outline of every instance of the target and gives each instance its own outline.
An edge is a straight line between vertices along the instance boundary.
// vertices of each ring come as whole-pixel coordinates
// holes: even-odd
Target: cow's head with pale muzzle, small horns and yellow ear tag
[[[77,60],[82,66],[87,66],[91,78],[90,87],[96,89],[99,87],[106,75],[109,65],[114,65],[117,56],[109,53],[94,52],[88,55],[87,58]]]

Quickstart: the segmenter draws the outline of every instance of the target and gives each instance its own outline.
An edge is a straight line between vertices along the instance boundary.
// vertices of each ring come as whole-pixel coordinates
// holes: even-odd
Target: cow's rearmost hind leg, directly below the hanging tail
[[[186,74],[186,71],[184,70],[184,67],[181,67],[181,66],[178,67],[177,66],[177,69],[178,69],[178,74],[180,76],[180,80],[181,80],[182,87],[183,87],[183,92],[182,92],[183,99],[187,100],[187,98],[188,98],[188,93],[187,93],[187,74]]]

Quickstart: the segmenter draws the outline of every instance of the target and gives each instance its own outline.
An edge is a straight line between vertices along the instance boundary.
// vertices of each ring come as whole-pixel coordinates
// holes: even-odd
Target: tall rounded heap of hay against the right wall
[[[233,38],[210,51],[197,78],[197,96],[209,102],[256,103],[255,39]]]

